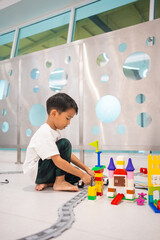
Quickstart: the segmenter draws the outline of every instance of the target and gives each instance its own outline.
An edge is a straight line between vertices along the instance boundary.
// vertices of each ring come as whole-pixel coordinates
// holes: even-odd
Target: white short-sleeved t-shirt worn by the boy
[[[59,154],[56,145],[59,139],[61,139],[60,132],[53,130],[47,123],[44,123],[31,138],[26,151],[23,171],[34,181],[37,177],[39,159],[51,159],[51,156]]]

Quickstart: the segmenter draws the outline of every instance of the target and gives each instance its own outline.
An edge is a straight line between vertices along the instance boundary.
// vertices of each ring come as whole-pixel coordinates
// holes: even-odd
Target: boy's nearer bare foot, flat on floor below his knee
[[[65,180],[62,182],[55,181],[53,185],[53,190],[55,191],[70,191],[70,192],[78,192],[78,187],[66,182]]]

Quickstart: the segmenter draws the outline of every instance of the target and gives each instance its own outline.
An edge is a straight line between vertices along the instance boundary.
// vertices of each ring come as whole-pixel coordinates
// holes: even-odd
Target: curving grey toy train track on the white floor
[[[87,189],[77,194],[58,209],[59,218],[51,227],[19,240],[47,240],[59,236],[75,221],[73,208],[87,197]]]

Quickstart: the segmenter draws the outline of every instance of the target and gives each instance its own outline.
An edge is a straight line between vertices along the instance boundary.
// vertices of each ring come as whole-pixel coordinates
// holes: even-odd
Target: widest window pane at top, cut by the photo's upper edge
[[[76,10],[74,41],[149,20],[149,0],[109,2],[101,0]]]

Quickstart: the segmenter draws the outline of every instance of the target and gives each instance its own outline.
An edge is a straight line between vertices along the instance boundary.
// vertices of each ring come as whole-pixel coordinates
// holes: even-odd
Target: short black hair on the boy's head
[[[56,109],[59,113],[66,112],[68,109],[73,108],[78,113],[78,106],[74,99],[66,93],[57,93],[46,102],[47,113],[50,114],[52,109]]]

